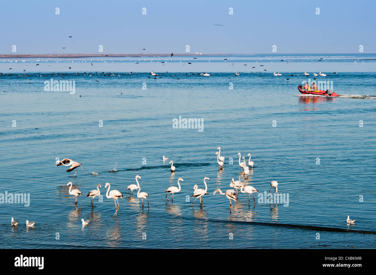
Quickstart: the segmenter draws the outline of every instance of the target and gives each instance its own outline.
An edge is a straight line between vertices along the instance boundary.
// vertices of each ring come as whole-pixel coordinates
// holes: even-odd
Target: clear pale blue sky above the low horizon
[[[0,54],[376,53],[375,12],[371,0],[2,1]]]

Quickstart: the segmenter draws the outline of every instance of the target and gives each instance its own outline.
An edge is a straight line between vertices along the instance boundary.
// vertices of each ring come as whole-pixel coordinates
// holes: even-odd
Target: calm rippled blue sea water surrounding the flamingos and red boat
[[[215,58],[213,65],[201,61],[202,67],[190,69],[191,57],[185,65],[169,61],[168,69],[142,61],[148,73],[133,69],[131,59],[124,66],[120,59],[111,59],[111,65],[75,63],[74,72],[50,70],[51,60],[1,62],[0,193],[29,193],[30,205],[0,204],[0,248],[374,248],[374,61],[354,65],[316,58],[287,64],[286,59],[275,69],[264,56],[261,61],[230,56],[226,64]],[[229,63],[234,68],[226,69]],[[10,74],[9,65],[18,71]],[[110,71],[106,66],[112,66],[109,76],[102,74]],[[252,66],[268,71],[252,72]],[[27,75],[23,68],[30,69]],[[211,76],[197,73],[204,70]],[[299,96],[297,86],[308,79],[303,73],[320,70],[327,76],[317,80],[333,81],[340,98]],[[274,71],[284,73],[274,77]],[[45,80],[62,77],[76,81],[74,94],[44,90]],[[202,119],[203,131],[173,128],[179,116]],[[223,170],[215,156],[218,146],[226,158]],[[230,208],[226,197],[213,196],[217,188],[230,189],[231,178],[243,180],[238,152],[251,153],[255,162],[245,182],[264,194],[277,180],[288,206],[259,203],[257,193],[256,204],[252,197],[249,204],[240,193]],[[174,161],[174,174],[162,155]],[[82,162],[85,172],[79,169],[73,177],[74,171],[56,167],[56,158]],[[149,208],[126,192],[137,174]],[[182,190],[172,204],[164,191],[177,186],[179,177]],[[186,198],[193,185],[205,188],[204,177],[210,178],[209,195],[202,207],[199,200],[191,207],[193,200]],[[69,181],[83,194],[77,206]],[[106,182],[124,195],[116,218],[114,201],[105,197]],[[92,208],[86,194],[98,183],[103,202],[95,198]],[[347,215],[355,224],[346,224]],[[11,217],[20,221],[17,227]],[[81,218],[90,219],[89,225],[82,227]],[[26,228],[26,219],[35,226]]]

